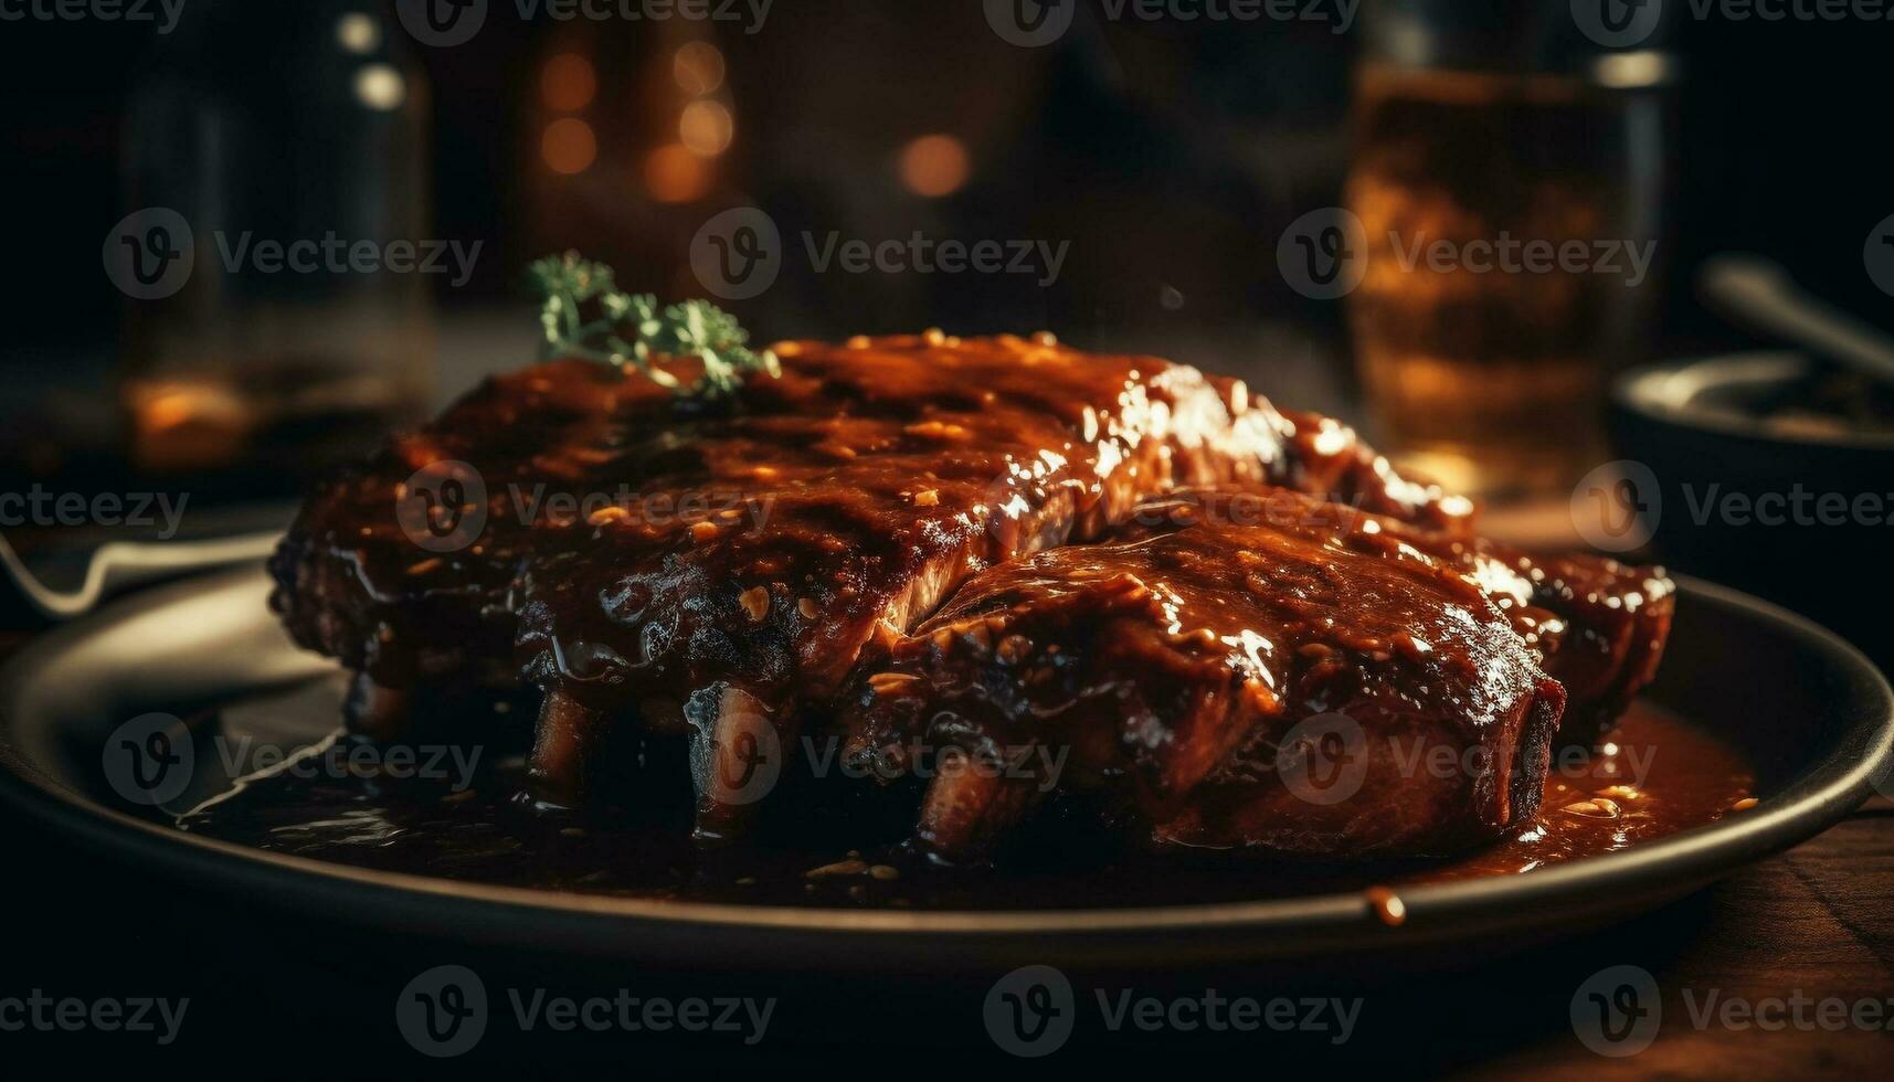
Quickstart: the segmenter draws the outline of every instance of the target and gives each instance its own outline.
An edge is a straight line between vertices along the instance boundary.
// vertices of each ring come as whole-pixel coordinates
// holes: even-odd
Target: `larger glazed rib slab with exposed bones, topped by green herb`
[[[780,379],[710,406],[572,362],[491,381],[313,496],[275,604],[362,675],[377,731],[417,690],[523,673],[545,692],[545,802],[583,796],[614,726],[691,733],[701,832],[722,834],[722,756],[792,735],[970,574],[1099,538],[1140,496],[1275,483],[1445,532],[1472,512],[1331,421],[1157,358],[939,334],[777,352]],[[451,460],[455,487],[411,483]],[[394,514],[415,487],[481,529],[417,544]],[[576,515],[542,500],[600,493]]]

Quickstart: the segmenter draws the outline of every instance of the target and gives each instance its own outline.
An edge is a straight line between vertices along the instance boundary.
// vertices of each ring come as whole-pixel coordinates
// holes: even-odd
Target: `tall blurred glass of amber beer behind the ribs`
[[[1487,498],[1568,491],[1602,460],[1604,387],[1659,290],[1671,63],[1561,55],[1544,25],[1430,27],[1426,8],[1358,72],[1362,383],[1409,468]]]

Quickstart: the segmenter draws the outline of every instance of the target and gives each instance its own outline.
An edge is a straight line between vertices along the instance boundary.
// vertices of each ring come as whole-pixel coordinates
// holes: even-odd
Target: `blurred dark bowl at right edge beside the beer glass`
[[[1799,352],[1680,360],[1617,379],[1612,440],[1655,485],[1638,517],[1672,570],[1796,608],[1890,667],[1890,402]]]

